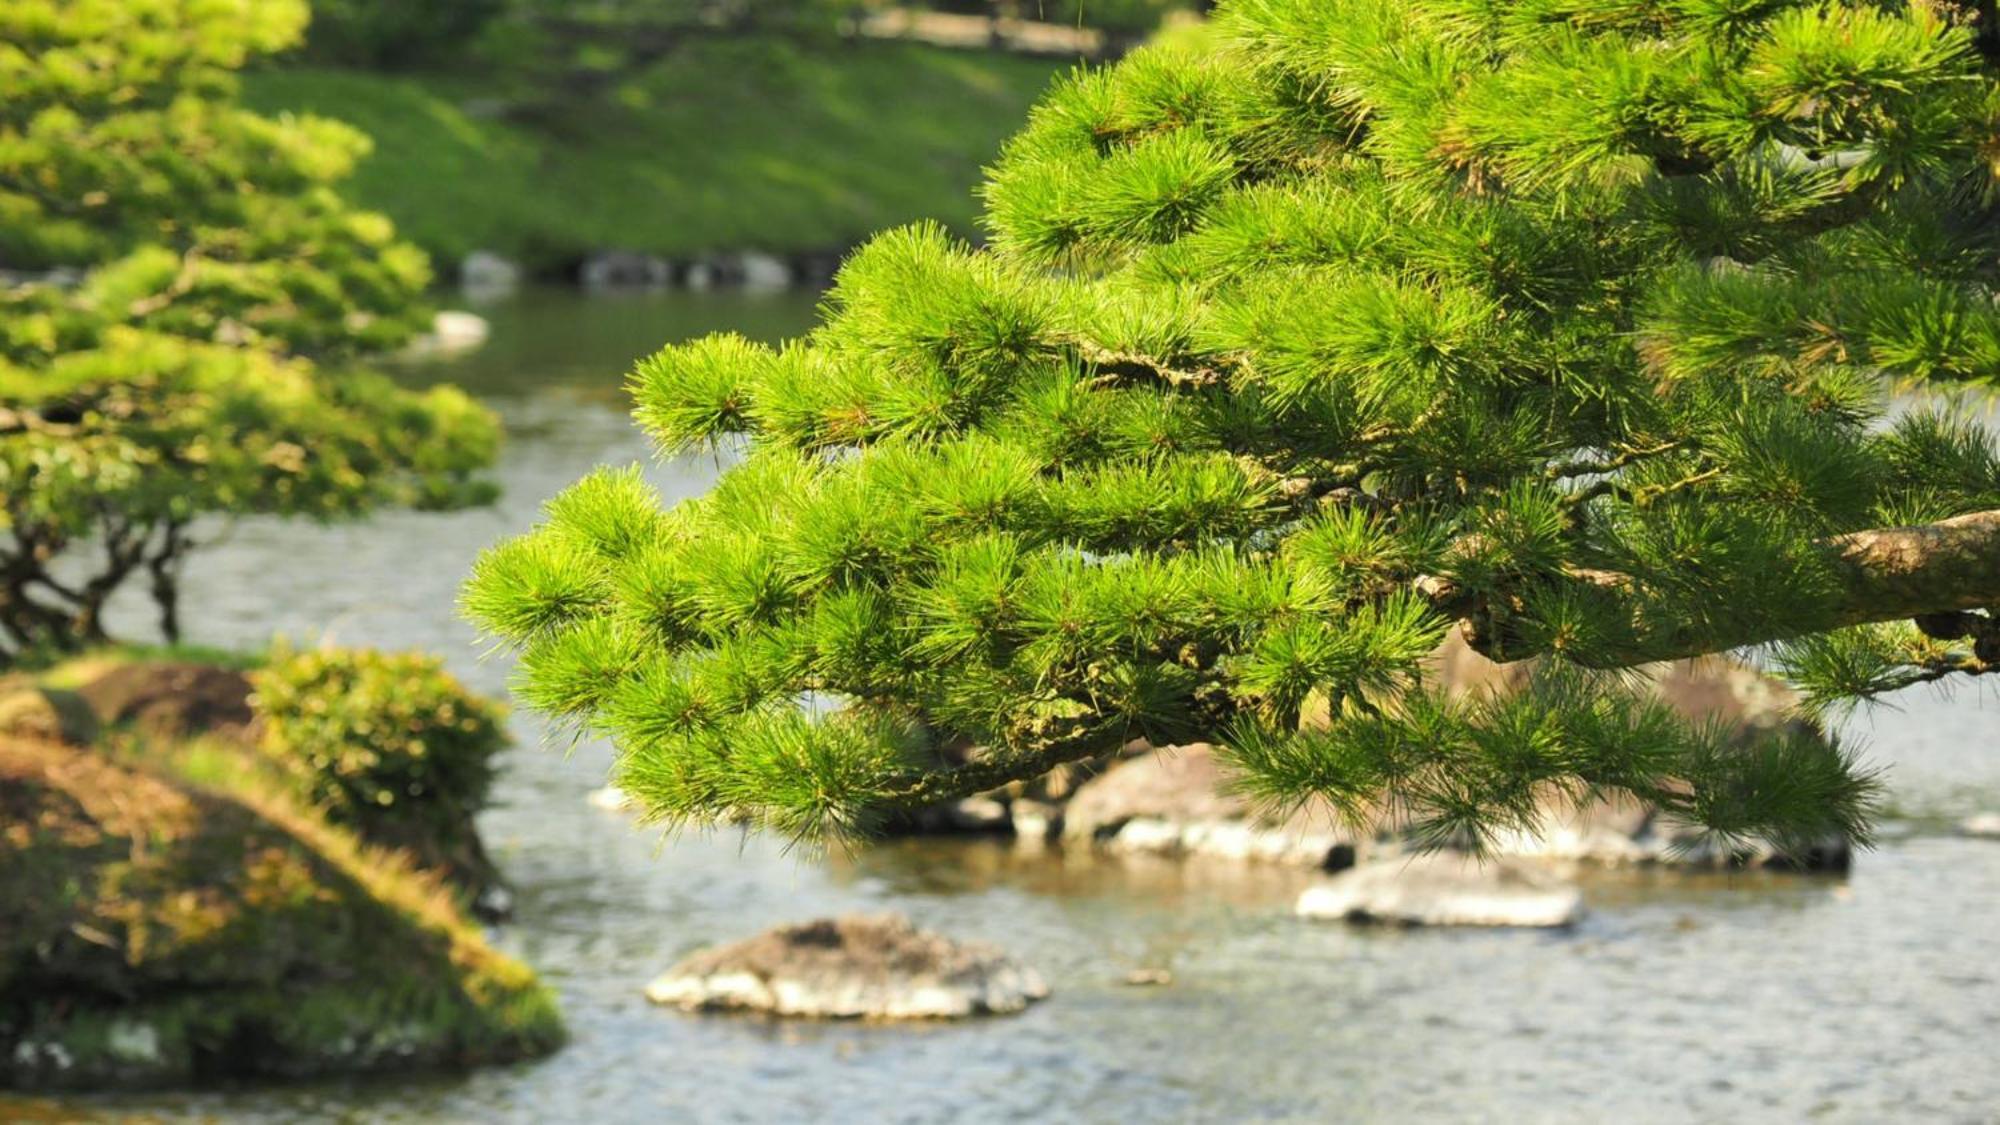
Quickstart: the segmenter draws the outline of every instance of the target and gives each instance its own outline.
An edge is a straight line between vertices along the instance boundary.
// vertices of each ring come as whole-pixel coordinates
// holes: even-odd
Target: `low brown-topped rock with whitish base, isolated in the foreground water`
[[[998,949],[920,931],[902,915],[786,925],[702,949],[646,985],[688,1011],[740,1009],[826,1019],[962,1019],[1048,995],[1040,973]]]

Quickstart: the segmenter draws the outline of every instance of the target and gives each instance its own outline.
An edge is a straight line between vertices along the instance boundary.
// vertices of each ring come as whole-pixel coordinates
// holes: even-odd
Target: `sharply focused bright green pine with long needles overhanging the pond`
[[[1224,2],[1042,100],[986,248],[892,230],[806,338],[644,360],[660,452],[734,466],[580,480],[466,611],[668,823],[866,829],[1212,739],[1436,843],[1604,793],[1864,839],[1852,753],[1620,669],[1756,647],[1830,707],[2000,663],[1988,24]],[[1452,629],[1530,691],[1444,697]]]

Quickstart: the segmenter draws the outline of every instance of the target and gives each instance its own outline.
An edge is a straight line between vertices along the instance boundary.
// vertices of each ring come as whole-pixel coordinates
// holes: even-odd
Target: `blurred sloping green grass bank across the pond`
[[[440,262],[590,250],[806,252],[938,218],[974,228],[980,168],[1062,64],[916,44],[728,40],[554,112],[506,74],[246,76],[260,112],[376,140],[348,184]],[[540,106],[534,124],[502,106]]]

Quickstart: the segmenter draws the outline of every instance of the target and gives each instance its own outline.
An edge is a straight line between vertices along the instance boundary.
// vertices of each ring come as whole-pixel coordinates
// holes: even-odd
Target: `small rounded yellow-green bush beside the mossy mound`
[[[470,833],[506,745],[504,711],[436,657],[280,651],[252,683],[260,749],[328,819],[386,843]]]

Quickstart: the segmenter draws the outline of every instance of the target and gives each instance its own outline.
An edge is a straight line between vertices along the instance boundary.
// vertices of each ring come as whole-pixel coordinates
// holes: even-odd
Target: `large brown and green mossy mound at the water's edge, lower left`
[[[276,793],[0,739],[0,1085],[462,1067],[562,1041],[434,877]]]

